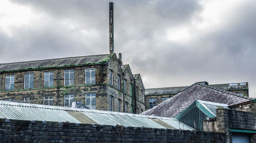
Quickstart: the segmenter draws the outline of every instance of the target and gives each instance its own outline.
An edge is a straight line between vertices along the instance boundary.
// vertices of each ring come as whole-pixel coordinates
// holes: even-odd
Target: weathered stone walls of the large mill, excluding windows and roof
[[[35,61],[37,62],[37,61]],[[134,107],[132,110],[132,94],[129,89],[130,82],[136,82],[133,74],[130,72],[123,72],[119,59],[116,54],[110,54],[109,59],[106,62],[86,64],[86,65],[71,65],[62,67],[43,67],[38,69],[21,69],[13,71],[1,71],[0,72],[0,99],[14,99],[14,101],[24,101],[25,97],[30,97],[33,100],[30,103],[44,104],[45,96],[53,96],[54,105],[63,106],[64,96],[72,94],[75,96],[75,101],[81,101],[86,103],[85,98],[88,93],[96,94],[96,109],[110,110],[110,97],[114,97],[114,111],[119,111],[118,101],[121,101],[121,110],[124,111],[124,103],[128,103],[128,111],[132,113],[140,113],[136,109],[144,110],[144,103],[138,104],[138,107]],[[85,84],[85,69],[95,68],[95,84]],[[64,86],[64,72],[65,70],[74,70],[74,85]],[[110,84],[110,70],[113,71],[113,84]],[[44,73],[53,71],[54,81],[53,86],[50,88],[44,87]],[[25,73],[34,73],[34,88],[24,89],[24,75]],[[127,75],[126,75],[127,74]],[[6,75],[14,75],[15,83],[14,90],[5,90],[5,78]],[[120,89],[118,89],[118,75],[120,79]],[[127,93],[123,94],[123,79],[127,79]],[[142,84],[139,90],[143,91],[144,87],[142,80],[139,80],[136,84]],[[134,89],[133,89],[134,90]]]

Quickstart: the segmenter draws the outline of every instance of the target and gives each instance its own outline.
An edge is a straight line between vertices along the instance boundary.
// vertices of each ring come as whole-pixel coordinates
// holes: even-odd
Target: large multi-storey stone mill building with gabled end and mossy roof
[[[0,99],[141,113],[144,85],[115,53],[0,64]]]

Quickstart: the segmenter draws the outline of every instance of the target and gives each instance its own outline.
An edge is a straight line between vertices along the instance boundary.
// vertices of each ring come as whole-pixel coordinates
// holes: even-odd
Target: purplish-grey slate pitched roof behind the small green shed
[[[201,83],[194,83],[179,94],[141,114],[174,118],[196,100],[233,105],[253,100],[253,98],[209,87]]]

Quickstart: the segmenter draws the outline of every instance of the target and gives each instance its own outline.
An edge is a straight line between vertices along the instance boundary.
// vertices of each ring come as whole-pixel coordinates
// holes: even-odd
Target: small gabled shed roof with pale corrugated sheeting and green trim
[[[184,115],[186,115],[186,113],[188,113],[190,110],[192,110],[195,107],[198,107],[209,118],[216,117],[216,109],[218,108],[229,109],[227,104],[196,100],[195,102],[190,104],[186,109],[180,112],[179,115],[175,117],[175,119],[179,120]]]

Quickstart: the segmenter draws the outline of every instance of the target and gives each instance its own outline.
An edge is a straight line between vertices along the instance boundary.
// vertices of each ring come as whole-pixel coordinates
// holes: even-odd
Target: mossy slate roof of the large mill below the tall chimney
[[[31,68],[61,67],[70,65],[96,64],[106,62],[113,54],[100,54],[88,56],[75,56],[69,58],[48,59],[28,62],[0,64],[0,71],[11,71]]]

